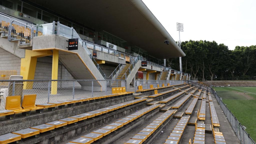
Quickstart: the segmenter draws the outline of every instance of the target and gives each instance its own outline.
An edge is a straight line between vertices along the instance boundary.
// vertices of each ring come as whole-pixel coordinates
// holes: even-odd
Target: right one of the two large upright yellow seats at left
[[[38,107],[35,105],[36,102],[36,95],[24,95],[22,101],[22,108],[29,109],[29,110],[39,110],[37,112],[42,112],[40,109],[44,109],[43,107]]]

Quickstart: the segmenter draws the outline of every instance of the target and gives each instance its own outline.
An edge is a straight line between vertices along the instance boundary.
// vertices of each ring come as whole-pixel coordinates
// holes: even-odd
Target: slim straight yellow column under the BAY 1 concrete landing
[[[51,70],[51,79],[55,80],[58,79],[58,63],[59,63],[59,51],[53,50],[52,52],[52,70]],[[57,94],[58,82],[52,81],[51,82],[51,94]]]

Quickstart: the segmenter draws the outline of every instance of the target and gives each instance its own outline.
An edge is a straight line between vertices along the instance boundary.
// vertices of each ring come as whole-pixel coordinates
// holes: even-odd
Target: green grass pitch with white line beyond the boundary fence
[[[246,126],[251,138],[256,141],[256,88],[214,87],[214,89],[238,121]]]

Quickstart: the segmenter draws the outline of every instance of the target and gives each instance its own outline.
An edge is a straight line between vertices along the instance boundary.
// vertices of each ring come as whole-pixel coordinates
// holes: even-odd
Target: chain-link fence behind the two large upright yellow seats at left
[[[102,96],[113,87],[126,87],[126,80],[1,80],[0,110],[5,109],[7,96],[36,94],[36,104],[76,98]],[[126,88],[127,89],[127,88]],[[22,100],[21,98],[21,100]]]

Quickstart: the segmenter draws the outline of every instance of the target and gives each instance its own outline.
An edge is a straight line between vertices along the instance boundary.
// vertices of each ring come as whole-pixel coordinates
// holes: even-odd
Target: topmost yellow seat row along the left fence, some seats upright
[[[73,104],[81,104],[89,100],[110,98],[115,96],[122,96],[132,94],[132,92],[126,92],[125,87],[112,88],[112,94],[103,96],[94,96],[87,98],[69,99],[66,101],[48,102],[46,104],[36,104],[36,95],[24,95],[22,104],[20,102],[20,96],[8,96],[6,97],[5,110],[0,110],[0,117],[5,116],[7,119],[15,117],[15,114],[22,113],[23,115],[30,115],[30,111],[36,110],[36,112],[43,112],[43,109],[54,110],[55,107],[63,108],[65,105],[72,106]],[[21,105],[21,106],[20,106]]]

